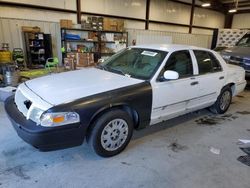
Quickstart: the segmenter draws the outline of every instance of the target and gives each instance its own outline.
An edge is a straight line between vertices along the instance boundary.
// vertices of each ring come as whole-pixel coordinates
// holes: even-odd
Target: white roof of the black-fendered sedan
[[[166,52],[179,51],[179,50],[193,50],[193,49],[211,51],[206,48],[200,48],[196,46],[189,46],[189,45],[182,45],[182,44],[144,44],[144,45],[132,46],[132,48],[154,49],[154,50],[161,50],[161,51],[166,51]]]

